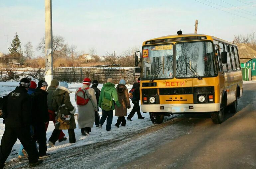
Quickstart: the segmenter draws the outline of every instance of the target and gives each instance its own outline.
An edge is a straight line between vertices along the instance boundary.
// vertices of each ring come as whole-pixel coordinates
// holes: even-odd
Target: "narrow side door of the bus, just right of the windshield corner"
[[[222,92],[225,86],[225,80],[224,80],[224,72],[223,72],[223,68],[222,68],[222,63],[221,63],[221,56],[220,56],[220,51],[218,48],[218,45],[215,44],[215,56],[216,56],[216,60],[217,60],[217,66],[218,66],[218,71],[219,71],[219,98],[220,98],[220,102],[221,102],[221,97],[222,97]]]

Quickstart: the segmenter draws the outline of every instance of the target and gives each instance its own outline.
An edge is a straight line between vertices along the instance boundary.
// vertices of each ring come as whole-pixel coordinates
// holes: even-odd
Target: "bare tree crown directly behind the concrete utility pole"
[[[60,35],[53,36],[53,56],[56,50],[61,51],[61,49],[63,48],[64,42],[65,42],[64,37]],[[41,50],[42,53],[45,53],[45,36],[41,39],[36,49],[38,51]],[[61,52],[58,52],[58,56],[60,55],[61,55]]]

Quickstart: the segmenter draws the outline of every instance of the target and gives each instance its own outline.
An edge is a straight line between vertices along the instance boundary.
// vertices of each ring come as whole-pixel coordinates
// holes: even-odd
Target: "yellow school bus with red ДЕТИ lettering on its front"
[[[237,46],[209,35],[177,33],[143,42],[141,110],[154,124],[187,113],[210,113],[213,123],[222,123],[224,113],[236,112],[243,91]]]

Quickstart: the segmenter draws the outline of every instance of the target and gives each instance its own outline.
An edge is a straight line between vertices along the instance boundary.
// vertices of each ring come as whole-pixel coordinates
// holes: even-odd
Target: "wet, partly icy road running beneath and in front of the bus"
[[[99,134],[75,146],[50,148],[52,156],[37,168],[256,168],[255,96],[255,83],[244,84],[238,112],[219,125],[207,114],[152,125],[144,114],[145,121],[127,122],[127,128],[95,130]],[[12,159],[7,167],[27,168],[28,160]]]

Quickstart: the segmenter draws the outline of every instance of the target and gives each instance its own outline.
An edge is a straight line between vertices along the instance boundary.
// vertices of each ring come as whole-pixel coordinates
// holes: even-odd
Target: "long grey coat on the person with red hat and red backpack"
[[[89,87],[88,85],[83,85],[81,88],[85,89]],[[75,91],[75,102],[76,102],[76,93],[79,89]],[[82,129],[85,127],[93,127],[94,124],[94,111],[97,110],[97,99],[95,95],[95,91],[93,88],[88,88],[86,90],[88,98],[90,98],[89,102],[85,105],[77,105],[77,123],[78,128]]]

